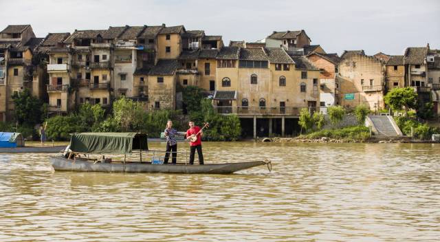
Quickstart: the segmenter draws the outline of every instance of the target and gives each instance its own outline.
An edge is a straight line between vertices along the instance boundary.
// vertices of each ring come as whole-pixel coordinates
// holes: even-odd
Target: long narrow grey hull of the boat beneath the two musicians
[[[184,174],[232,174],[238,170],[265,165],[264,161],[237,162],[225,164],[149,164],[131,163],[101,163],[89,162],[85,159],[66,159],[65,157],[50,157],[50,164],[55,170],[106,172],[106,173],[184,173]]]

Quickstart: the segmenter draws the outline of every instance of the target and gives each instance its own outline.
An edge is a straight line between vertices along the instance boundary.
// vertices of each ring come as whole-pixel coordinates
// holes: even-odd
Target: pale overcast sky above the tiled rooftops
[[[31,24],[48,32],[122,25],[185,25],[230,40],[256,41],[272,31],[305,30],[327,53],[365,50],[403,54],[405,47],[440,49],[440,1],[137,1],[0,0],[0,29]]]

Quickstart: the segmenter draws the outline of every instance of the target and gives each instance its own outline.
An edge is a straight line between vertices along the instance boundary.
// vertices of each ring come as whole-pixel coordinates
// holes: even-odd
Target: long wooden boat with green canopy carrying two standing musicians
[[[142,151],[149,151],[145,134],[140,133],[75,133],[72,134],[68,151],[63,155],[50,157],[55,170],[107,172],[107,173],[185,173],[185,174],[232,174],[254,166],[266,165],[272,170],[270,161],[237,162],[223,164],[153,164],[142,162]],[[113,161],[110,159],[89,159],[80,154],[120,153],[130,154],[139,151],[140,161]],[[163,152],[163,151],[162,151]],[[154,154],[153,154],[154,157]]]

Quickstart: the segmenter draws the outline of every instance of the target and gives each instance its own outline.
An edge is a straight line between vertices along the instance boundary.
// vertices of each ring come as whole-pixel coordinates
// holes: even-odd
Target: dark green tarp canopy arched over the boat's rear
[[[147,135],[142,133],[74,133],[70,149],[75,153],[129,154],[148,151]]]

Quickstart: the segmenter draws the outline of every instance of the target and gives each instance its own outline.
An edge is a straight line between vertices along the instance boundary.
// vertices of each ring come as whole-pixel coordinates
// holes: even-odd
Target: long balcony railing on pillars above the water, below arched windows
[[[214,110],[221,114],[238,114],[238,115],[300,115],[300,110],[309,109],[314,113],[316,107],[220,107],[215,106]]]

